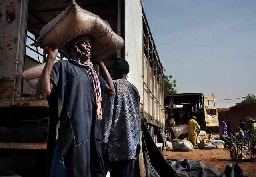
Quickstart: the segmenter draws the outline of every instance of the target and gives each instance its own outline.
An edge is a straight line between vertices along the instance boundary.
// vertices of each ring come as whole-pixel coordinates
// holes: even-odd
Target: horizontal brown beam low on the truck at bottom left
[[[0,149],[46,149],[47,143],[0,142]]]

